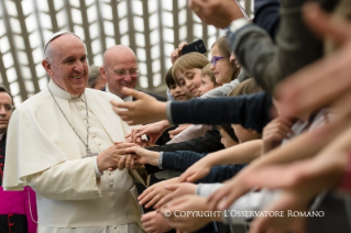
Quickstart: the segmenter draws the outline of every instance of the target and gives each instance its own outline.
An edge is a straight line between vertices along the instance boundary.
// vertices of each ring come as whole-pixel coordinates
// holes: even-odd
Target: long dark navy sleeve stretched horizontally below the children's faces
[[[262,133],[271,121],[272,98],[264,93],[240,97],[195,99],[168,103],[167,115],[175,124],[241,124]],[[204,118],[204,115],[210,115]]]

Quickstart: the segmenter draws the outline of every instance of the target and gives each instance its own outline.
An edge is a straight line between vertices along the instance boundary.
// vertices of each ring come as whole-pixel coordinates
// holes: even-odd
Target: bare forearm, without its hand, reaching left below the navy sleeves
[[[260,157],[262,140],[242,143],[219,152],[211,153],[202,158],[211,167],[227,164],[248,164]]]

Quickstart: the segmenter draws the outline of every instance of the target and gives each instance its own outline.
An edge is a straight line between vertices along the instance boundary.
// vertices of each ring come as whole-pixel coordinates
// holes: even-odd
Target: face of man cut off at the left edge
[[[12,99],[9,93],[0,92],[0,134],[7,132],[11,114]]]

